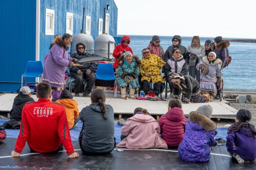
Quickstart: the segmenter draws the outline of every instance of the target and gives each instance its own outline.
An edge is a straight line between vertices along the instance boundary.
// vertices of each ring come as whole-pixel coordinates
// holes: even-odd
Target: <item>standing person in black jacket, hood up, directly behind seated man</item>
[[[186,60],[187,65],[188,65],[188,63],[189,63],[189,55],[187,53],[186,47],[181,45],[181,36],[179,36],[179,35],[173,36],[172,44],[173,45],[169,46],[167,48],[167,50],[165,51],[165,53],[164,53],[164,60],[165,60],[165,62],[167,62],[168,59],[170,59],[173,56],[172,49],[176,47],[176,48],[178,48],[181,51],[181,55]]]

